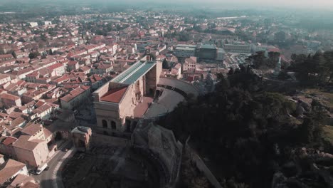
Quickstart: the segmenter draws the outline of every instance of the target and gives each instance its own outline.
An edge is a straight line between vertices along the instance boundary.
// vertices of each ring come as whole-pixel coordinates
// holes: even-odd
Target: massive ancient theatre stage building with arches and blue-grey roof
[[[161,72],[159,61],[137,61],[96,90],[93,97],[97,126],[131,131],[135,119],[142,117],[152,102]]]

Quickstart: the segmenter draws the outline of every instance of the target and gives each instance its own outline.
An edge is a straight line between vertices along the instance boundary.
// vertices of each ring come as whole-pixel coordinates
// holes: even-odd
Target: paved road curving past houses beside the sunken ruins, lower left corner
[[[72,147],[73,143],[69,142],[68,145],[65,145],[63,148]],[[53,172],[57,174],[57,177],[60,176],[61,172],[55,172],[56,166],[63,159],[64,155],[67,152],[65,150],[59,150],[58,153],[53,157],[52,160],[48,162],[48,167],[50,167],[47,171],[43,171],[39,175],[33,175],[33,177],[38,181],[41,185],[41,188],[51,188],[54,187],[52,180],[53,180]],[[58,179],[58,178],[57,178]],[[60,187],[60,186],[59,186]]]

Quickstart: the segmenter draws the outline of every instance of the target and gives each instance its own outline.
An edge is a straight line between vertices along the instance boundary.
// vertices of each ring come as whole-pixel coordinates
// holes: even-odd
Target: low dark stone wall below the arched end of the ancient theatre
[[[108,135],[100,135],[93,133],[92,135],[92,144],[93,145],[111,145],[111,146],[121,146],[126,147],[131,145],[131,140],[127,140],[121,137],[112,137]]]

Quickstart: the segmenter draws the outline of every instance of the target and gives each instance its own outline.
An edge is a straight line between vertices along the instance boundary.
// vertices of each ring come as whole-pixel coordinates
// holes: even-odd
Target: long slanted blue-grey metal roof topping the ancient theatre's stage
[[[139,78],[141,78],[144,74],[146,74],[148,71],[150,71],[150,69],[152,69],[155,65],[155,61],[138,61],[137,63],[134,63],[132,66],[127,68],[126,71],[113,78],[111,82],[124,83],[128,85],[132,84],[136,82]]]

